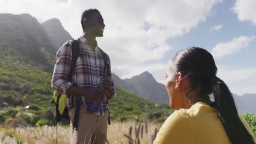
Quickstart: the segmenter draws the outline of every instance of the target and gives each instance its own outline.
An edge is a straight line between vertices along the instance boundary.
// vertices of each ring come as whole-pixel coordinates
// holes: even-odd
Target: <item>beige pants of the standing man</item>
[[[74,120],[74,109],[68,111],[71,117],[71,130]],[[76,144],[105,144],[107,140],[108,115],[96,116],[86,113],[82,108],[79,112]],[[74,139],[72,133],[72,140]],[[73,142],[72,142],[73,143]]]

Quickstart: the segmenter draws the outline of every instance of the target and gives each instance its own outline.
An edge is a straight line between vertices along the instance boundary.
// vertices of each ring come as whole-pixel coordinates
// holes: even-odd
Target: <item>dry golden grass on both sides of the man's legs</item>
[[[143,127],[142,127],[143,125]],[[159,128],[161,124],[155,124],[155,123],[149,123],[147,124],[141,124],[140,126],[140,133],[138,131],[139,124],[135,122],[126,122],[126,123],[120,123],[120,122],[113,122],[111,125],[108,125],[108,143],[115,144],[115,143],[129,143],[127,137],[124,136],[124,134],[131,137],[133,140],[132,143],[138,143],[138,138],[140,143],[152,143],[152,136],[155,134],[155,129]],[[136,127],[136,132],[135,132]],[[146,130],[147,128],[147,130]],[[132,129],[132,132],[129,131]],[[144,133],[143,133],[143,131]],[[5,130],[6,131],[6,130]],[[58,138],[58,143],[66,144],[70,143],[71,141],[71,131],[70,127],[61,127],[58,126],[58,135],[56,135],[56,127],[48,127],[47,125],[44,125],[42,127],[34,127],[34,128],[15,128],[13,131],[16,131],[16,136],[13,136],[11,134],[7,134],[12,136],[13,138],[6,136],[5,143],[19,143],[22,142],[22,144],[30,143],[30,144],[51,144],[56,143],[56,137]],[[146,133],[148,131],[148,133]],[[142,134],[143,133],[143,134]],[[138,138],[136,138],[136,136]],[[1,142],[1,139],[3,137],[3,131],[0,131],[0,144],[5,144],[3,141]],[[19,137],[19,138],[18,138]],[[15,138],[15,139],[14,139]],[[19,140],[18,140],[19,139]],[[135,142],[136,141],[136,142]]]

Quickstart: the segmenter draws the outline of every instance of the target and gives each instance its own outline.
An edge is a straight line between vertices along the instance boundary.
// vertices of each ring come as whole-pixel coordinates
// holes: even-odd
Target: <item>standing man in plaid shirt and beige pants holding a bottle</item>
[[[96,37],[103,37],[104,21],[97,9],[85,10],[81,17],[84,31],[79,41],[79,56],[74,67],[72,80],[68,81],[68,73],[72,58],[71,41],[67,41],[57,52],[52,87],[75,99],[82,98],[79,111],[77,143],[105,143],[107,139],[108,109],[107,98],[116,95],[110,70],[110,59],[107,57],[107,69]],[[104,79],[103,77],[108,77]],[[100,87],[99,87],[100,86]],[[96,101],[96,103],[94,103]],[[95,110],[95,107],[99,107]],[[73,126],[75,109],[72,97],[67,100],[71,126]]]

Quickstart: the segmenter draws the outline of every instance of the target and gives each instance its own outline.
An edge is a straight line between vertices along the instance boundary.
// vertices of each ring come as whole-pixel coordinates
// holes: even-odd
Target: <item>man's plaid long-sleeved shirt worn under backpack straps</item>
[[[80,37],[78,41],[80,51],[77,64],[73,70],[72,80],[68,81],[68,73],[72,59],[72,47],[71,41],[67,41],[59,51],[57,51],[57,62],[54,67],[51,83],[52,87],[61,94],[66,93],[68,87],[72,85],[84,88],[98,87],[101,81],[100,77],[107,75],[109,80],[112,82],[112,95],[110,97],[110,99],[112,99],[116,95],[116,91],[112,80],[109,57],[107,56],[107,74],[104,74],[104,61],[101,56],[100,48],[96,46],[93,51],[84,37]],[[71,97],[69,97],[67,100],[69,110],[72,108],[71,103],[72,100]],[[101,109],[97,113],[90,110],[90,103],[91,101],[82,96],[82,107],[85,112],[95,115],[105,115],[107,112],[107,100],[103,101]]]

